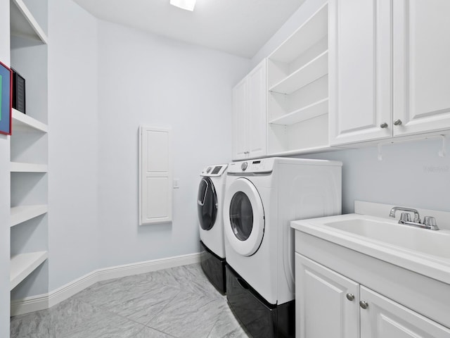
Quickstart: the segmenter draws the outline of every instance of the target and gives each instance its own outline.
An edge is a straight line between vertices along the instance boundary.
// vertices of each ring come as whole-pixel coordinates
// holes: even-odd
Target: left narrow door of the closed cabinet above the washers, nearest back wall
[[[232,148],[233,160],[242,160],[247,156],[246,128],[248,120],[247,108],[247,78],[233,88],[232,116]]]

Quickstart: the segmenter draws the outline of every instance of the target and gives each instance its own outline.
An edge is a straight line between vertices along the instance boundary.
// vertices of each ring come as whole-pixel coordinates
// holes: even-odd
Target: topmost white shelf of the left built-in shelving
[[[47,44],[47,35],[23,0],[11,0],[11,35]]]

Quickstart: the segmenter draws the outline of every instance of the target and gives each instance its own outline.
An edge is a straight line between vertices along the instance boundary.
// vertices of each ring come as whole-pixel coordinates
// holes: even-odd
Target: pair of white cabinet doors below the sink
[[[450,337],[439,323],[299,253],[295,295],[297,338]]]

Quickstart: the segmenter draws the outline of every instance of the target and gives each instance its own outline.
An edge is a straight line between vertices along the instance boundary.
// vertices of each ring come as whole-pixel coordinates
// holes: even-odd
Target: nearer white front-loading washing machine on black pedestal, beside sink
[[[291,220],[341,213],[342,163],[230,163],[224,199],[227,300],[253,337],[295,337]]]

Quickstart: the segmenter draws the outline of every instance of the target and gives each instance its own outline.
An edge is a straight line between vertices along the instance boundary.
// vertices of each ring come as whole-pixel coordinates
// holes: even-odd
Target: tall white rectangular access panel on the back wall
[[[169,129],[139,127],[139,225],[172,222]]]

